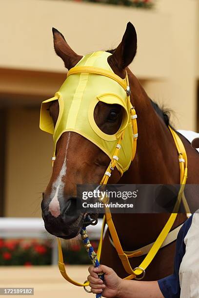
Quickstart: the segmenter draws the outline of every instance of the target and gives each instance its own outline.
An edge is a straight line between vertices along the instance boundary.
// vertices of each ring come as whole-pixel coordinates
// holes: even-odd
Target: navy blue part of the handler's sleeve
[[[179,230],[179,234],[176,242],[176,255],[174,260],[174,273],[163,279],[159,279],[159,288],[164,298],[179,298],[180,286],[179,286],[179,266],[182,258],[185,254],[184,237],[186,236],[191,223],[192,217],[190,216]]]

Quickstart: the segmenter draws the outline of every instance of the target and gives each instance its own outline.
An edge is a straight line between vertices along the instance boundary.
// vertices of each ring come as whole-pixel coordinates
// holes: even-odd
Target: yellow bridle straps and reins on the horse
[[[116,80],[120,85],[123,85],[122,87],[126,90],[127,86],[128,86],[128,76],[126,76],[126,82],[124,82],[124,80],[122,80],[121,78],[119,78],[119,76],[115,75],[114,73],[111,72],[107,72],[104,71],[102,69],[97,69],[97,68],[88,68],[85,70],[85,67],[81,68],[79,67],[78,69],[79,72],[82,71],[86,71],[86,72],[91,72],[92,73],[96,73],[96,74],[100,74],[100,75],[106,75],[114,80]],[[70,73],[70,71],[69,71]],[[69,74],[70,75],[70,74]],[[127,95],[127,100],[129,100],[130,102],[130,94]],[[132,129],[133,129],[133,155],[132,155],[132,160],[135,157],[136,154],[136,145],[137,145],[137,138],[138,138],[138,128],[137,128],[137,115],[136,115],[136,111],[134,109],[134,107],[132,107],[131,105],[131,120],[132,120]],[[97,258],[100,261],[100,255],[101,255],[101,249],[102,249],[102,238],[103,238],[103,230],[104,230],[104,225],[105,222],[108,225],[112,240],[114,242],[115,248],[117,250],[117,253],[119,255],[119,258],[122,262],[122,265],[125,269],[125,271],[129,274],[129,276],[127,276],[125,279],[134,279],[137,278],[139,279],[139,275],[145,274],[145,269],[149,266],[149,264],[153,261],[155,255],[157,254],[157,252],[159,251],[162,243],[164,242],[164,240],[166,239],[169,231],[171,230],[176,217],[178,215],[178,211],[179,211],[179,206],[181,203],[181,200],[183,202],[184,208],[186,213],[190,213],[189,207],[187,205],[186,199],[184,197],[184,187],[186,185],[186,180],[187,180],[187,155],[186,155],[186,151],[184,148],[184,145],[182,143],[182,141],[180,140],[178,134],[171,129],[171,127],[169,127],[171,134],[173,136],[174,142],[176,144],[176,148],[178,150],[178,154],[179,154],[179,168],[180,168],[180,189],[179,189],[179,194],[178,194],[178,199],[176,202],[176,205],[174,207],[173,213],[170,215],[167,223],[165,224],[165,226],[163,227],[162,231],[160,232],[157,240],[154,242],[153,246],[151,247],[150,251],[148,252],[148,254],[146,255],[146,257],[144,258],[144,260],[141,262],[141,264],[139,265],[139,267],[132,269],[130,262],[129,262],[129,258],[133,258],[133,257],[138,257],[141,254],[139,252],[136,252],[134,254],[125,254],[120,241],[119,241],[119,237],[115,228],[115,225],[113,223],[112,220],[112,216],[111,216],[111,212],[110,209],[108,207],[104,207],[104,211],[105,211],[105,215],[103,218],[103,224],[102,224],[102,229],[101,229],[101,235],[100,235],[100,242],[99,242],[99,247],[98,247],[98,252],[97,252]],[[114,156],[118,156],[119,155],[119,149],[121,148],[121,142],[122,142],[122,138],[123,138],[123,133],[121,133],[120,138],[119,138],[119,142],[118,145],[116,147]],[[108,179],[110,177],[110,174],[112,172],[112,170],[115,168],[116,166],[116,159],[112,159],[101,182],[100,185],[106,185],[108,182]],[[105,205],[104,205],[105,206]],[[69,281],[70,283],[77,285],[77,286],[83,286],[86,287],[89,285],[89,282],[85,282],[85,283],[79,283],[73,279],[71,279],[68,274],[66,273],[66,269],[65,269],[65,265],[63,262],[63,255],[62,255],[62,249],[61,249],[61,242],[60,239],[58,238],[58,249],[59,249],[59,269],[60,269],[60,273],[63,276],[64,279],[66,279],[67,281]],[[140,278],[141,279],[141,278]]]

